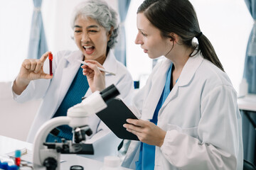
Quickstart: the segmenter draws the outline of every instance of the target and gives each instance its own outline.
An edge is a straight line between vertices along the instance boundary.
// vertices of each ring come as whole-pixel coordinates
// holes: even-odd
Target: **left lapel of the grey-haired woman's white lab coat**
[[[65,94],[67,94],[67,91],[75,77],[75,74],[80,68],[80,63],[76,62],[76,60],[82,60],[82,52],[74,52],[72,53],[72,55],[68,55],[67,57],[65,57],[65,59],[65,63],[63,63],[65,64],[65,66],[63,66],[63,73],[60,81],[58,106],[60,106],[60,103],[63,101],[63,98],[65,97]],[[56,107],[56,109],[58,108],[58,106]]]

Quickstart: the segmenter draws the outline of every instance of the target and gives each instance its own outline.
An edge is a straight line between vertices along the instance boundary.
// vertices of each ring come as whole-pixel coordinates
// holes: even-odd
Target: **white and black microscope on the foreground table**
[[[85,135],[90,136],[92,130],[87,125],[87,118],[107,108],[107,101],[119,95],[112,84],[103,91],[95,91],[81,103],[68,109],[67,116],[52,118],[44,123],[36,134],[33,145],[34,169],[46,167],[47,170],[60,170],[60,154],[93,154],[92,144],[85,144]],[[60,125],[73,128],[74,141],[62,140],[61,143],[46,142],[48,134]]]

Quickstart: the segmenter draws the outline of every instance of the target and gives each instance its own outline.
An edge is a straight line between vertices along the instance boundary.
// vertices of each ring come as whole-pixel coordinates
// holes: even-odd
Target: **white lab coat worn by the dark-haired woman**
[[[134,98],[134,112],[153,118],[170,60],[158,63]],[[158,115],[166,131],[154,169],[242,169],[242,130],[237,95],[227,74],[199,54],[190,57]],[[140,142],[132,141],[122,166],[135,169]]]

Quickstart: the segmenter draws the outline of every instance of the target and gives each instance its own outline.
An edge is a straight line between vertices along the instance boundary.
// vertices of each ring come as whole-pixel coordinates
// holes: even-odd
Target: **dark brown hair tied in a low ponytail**
[[[196,11],[188,0],[145,0],[137,13],[144,13],[151,24],[159,28],[163,38],[175,40],[170,36],[175,33],[184,45],[192,47],[192,40],[197,37],[201,55],[224,72],[213,45],[201,33]]]

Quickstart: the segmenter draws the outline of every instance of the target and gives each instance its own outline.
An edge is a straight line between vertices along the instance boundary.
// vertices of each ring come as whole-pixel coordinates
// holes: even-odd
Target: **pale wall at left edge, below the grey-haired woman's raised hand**
[[[11,97],[11,82],[0,82],[0,135],[26,141],[41,100],[17,103]]]

